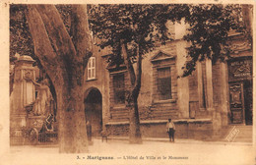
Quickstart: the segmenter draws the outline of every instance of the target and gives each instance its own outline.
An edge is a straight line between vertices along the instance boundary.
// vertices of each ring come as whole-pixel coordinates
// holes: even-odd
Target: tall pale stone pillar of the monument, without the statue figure
[[[32,57],[21,56],[14,68],[14,84],[10,97],[10,144],[25,144],[27,123],[27,105],[35,99],[35,87],[27,78],[35,80]]]

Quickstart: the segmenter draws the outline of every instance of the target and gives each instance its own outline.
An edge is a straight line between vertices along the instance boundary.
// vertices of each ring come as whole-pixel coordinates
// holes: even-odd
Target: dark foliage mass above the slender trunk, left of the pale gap
[[[113,55],[109,62],[123,63],[120,41],[127,44],[129,57],[136,62],[137,46],[140,54],[146,54],[156,48],[156,43],[164,44],[170,40],[165,24],[167,11],[172,6],[166,5],[92,5],[90,26],[98,39],[100,48],[110,46]]]

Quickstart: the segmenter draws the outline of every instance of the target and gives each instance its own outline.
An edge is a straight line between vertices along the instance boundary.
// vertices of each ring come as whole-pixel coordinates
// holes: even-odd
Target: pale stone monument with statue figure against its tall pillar
[[[39,130],[47,115],[53,111],[48,80],[35,83],[34,62],[31,56],[24,55],[15,63],[10,96],[11,144],[26,144],[30,130]]]

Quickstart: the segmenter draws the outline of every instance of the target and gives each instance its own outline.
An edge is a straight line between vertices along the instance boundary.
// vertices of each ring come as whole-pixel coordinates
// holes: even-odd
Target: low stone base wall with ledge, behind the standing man
[[[213,134],[213,125],[211,120],[176,120],[175,138],[194,138],[210,139]],[[166,122],[161,121],[142,121],[141,133],[143,138],[168,138],[166,133]],[[106,129],[110,136],[128,137],[129,123],[107,124]]]

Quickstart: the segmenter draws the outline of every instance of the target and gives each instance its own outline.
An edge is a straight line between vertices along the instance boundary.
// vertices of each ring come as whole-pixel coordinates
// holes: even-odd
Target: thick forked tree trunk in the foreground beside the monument
[[[85,13],[82,12],[86,11],[76,11],[77,14],[84,16]],[[79,26],[77,29],[82,31],[80,35],[83,38],[78,42],[77,52],[53,5],[29,5],[27,17],[32,32],[34,53],[56,90],[60,152],[87,152],[83,78],[84,68],[91,56],[88,54],[91,47],[90,44],[79,43],[91,42],[85,41],[88,36],[83,36],[89,33],[88,24],[82,22],[84,27]]]

